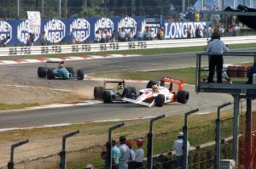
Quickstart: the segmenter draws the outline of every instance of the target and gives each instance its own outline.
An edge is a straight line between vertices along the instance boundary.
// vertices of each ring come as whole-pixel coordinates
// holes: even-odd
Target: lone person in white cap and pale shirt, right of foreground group
[[[177,160],[174,162],[176,168],[183,168],[183,132],[178,132],[177,139],[174,141],[172,149],[175,150],[174,155]],[[189,155],[190,144],[188,141],[187,152]]]

